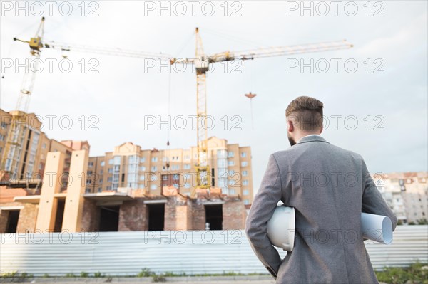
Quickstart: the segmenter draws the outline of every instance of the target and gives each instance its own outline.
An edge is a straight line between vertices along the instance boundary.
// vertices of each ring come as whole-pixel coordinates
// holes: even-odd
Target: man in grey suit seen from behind
[[[286,110],[292,147],[271,154],[245,223],[256,256],[277,283],[378,283],[362,237],[361,212],[397,218],[359,154],[320,136],[319,100],[299,97]],[[278,201],[295,208],[295,246],[281,260],[267,238]]]

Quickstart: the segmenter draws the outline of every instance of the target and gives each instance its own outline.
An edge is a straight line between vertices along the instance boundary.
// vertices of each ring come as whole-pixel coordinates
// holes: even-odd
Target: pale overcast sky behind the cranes
[[[325,104],[325,138],[362,154],[370,172],[427,171],[427,1],[343,1],[338,6],[307,1],[312,11],[302,9],[300,1],[235,1],[223,6],[223,1],[195,6],[181,1],[169,2],[169,9],[164,3],[164,10],[158,1],[76,1],[70,13],[69,2],[38,3],[27,4],[26,16],[25,6],[16,10],[15,1],[1,1],[3,110],[14,109],[24,75],[24,68],[4,68],[5,60],[24,63],[29,54],[25,43],[12,38],[34,36],[41,7],[46,40],[178,58],[194,57],[196,26],[208,55],[347,39],[354,48],[215,65],[207,76],[208,114],[215,120],[208,135],[252,147],[256,191],[269,154],[290,147],[285,108],[297,96],[310,95]],[[63,56],[73,64],[69,73],[58,66]],[[128,141],[143,149],[164,149],[167,125],[145,130],[145,117],[195,115],[195,73],[190,66],[182,73],[178,68],[168,72],[148,68],[148,61],[138,58],[46,49],[41,58],[45,68],[37,75],[29,112],[44,118],[42,130],[50,138],[88,140],[91,156]],[[49,60],[56,60],[52,73]],[[89,73],[89,68],[98,73]],[[244,96],[250,91],[257,94],[253,126],[250,101]],[[50,115],[57,116],[51,127]],[[67,117],[58,125],[65,115],[73,122],[69,130]],[[175,122],[181,126],[181,120]],[[170,131],[171,149],[188,148],[195,141],[190,118],[185,130]]]

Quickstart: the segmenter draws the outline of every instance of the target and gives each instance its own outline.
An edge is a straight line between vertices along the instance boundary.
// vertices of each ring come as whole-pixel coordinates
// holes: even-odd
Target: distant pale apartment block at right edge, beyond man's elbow
[[[427,172],[374,174],[373,179],[401,223],[428,219]]]

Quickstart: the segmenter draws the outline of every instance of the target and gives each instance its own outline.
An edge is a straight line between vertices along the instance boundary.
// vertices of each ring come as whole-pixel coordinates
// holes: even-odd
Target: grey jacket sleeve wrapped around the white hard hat
[[[262,184],[254,196],[250,213],[245,222],[245,233],[255,255],[275,278],[281,258],[267,238],[267,221],[272,217],[281,196],[280,169],[275,157],[271,154]]]

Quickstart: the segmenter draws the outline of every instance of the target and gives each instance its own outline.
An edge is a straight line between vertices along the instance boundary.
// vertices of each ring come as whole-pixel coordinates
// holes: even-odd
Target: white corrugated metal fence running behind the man
[[[428,226],[398,226],[389,246],[366,247],[375,269],[426,263]],[[186,274],[267,272],[240,230],[1,234],[0,248],[1,273],[136,275],[142,268]]]

